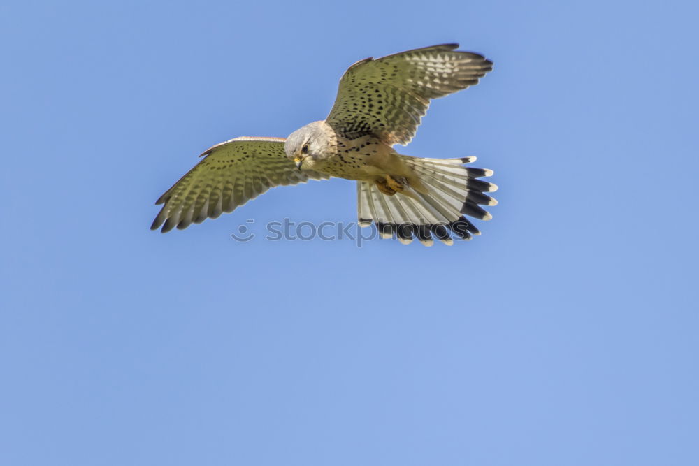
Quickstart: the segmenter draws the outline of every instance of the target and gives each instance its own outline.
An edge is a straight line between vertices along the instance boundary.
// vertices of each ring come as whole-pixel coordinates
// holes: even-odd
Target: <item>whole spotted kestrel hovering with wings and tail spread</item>
[[[491,170],[466,167],[475,157],[425,159],[398,154],[415,136],[430,99],[477,84],[493,63],[482,55],[433,45],[350,66],[330,115],[284,138],[234,138],[160,196],[151,229],[187,228],[215,219],[271,187],[341,177],[356,180],[359,225],[373,222],[383,238],[447,245],[480,234],[468,217],[491,219],[496,205],[480,180]]]

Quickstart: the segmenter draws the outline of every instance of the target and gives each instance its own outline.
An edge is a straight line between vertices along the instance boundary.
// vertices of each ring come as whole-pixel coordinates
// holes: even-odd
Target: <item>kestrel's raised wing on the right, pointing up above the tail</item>
[[[326,122],[348,139],[372,134],[389,145],[410,143],[430,99],[478,83],[492,61],[433,45],[350,66]]]

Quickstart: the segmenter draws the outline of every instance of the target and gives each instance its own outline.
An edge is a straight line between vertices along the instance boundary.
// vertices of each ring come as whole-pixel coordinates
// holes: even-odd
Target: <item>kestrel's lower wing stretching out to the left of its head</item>
[[[165,204],[150,229],[182,230],[192,222],[217,218],[280,184],[328,178],[298,170],[284,154],[283,138],[235,138],[217,144],[206,157],[156,201]]]

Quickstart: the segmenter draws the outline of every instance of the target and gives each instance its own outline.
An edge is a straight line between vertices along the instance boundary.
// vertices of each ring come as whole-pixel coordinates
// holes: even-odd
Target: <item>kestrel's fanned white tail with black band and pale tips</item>
[[[382,238],[396,236],[403,244],[417,238],[423,245],[433,245],[432,235],[446,245],[452,245],[452,235],[470,240],[480,231],[464,217],[490,220],[491,214],[481,205],[496,205],[498,201],[484,193],[496,191],[496,184],[478,178],[493,175],[492,170],[470,168],[465,163],[475,157],[461,159],[422,159],[401,156],[417,173],[428,189],[422,194],[409,186],[404,191],[387,196],[376,184],[357,182],[359,226],[372,221]]]

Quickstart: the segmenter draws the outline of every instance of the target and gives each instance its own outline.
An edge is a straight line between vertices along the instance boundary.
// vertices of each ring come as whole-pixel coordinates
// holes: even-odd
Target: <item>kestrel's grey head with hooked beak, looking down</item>
[[[332,129],[325,122],[313,122],[297,129],[284,143],[284,152],[299,170],[312,170],[333,155]]]

